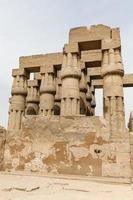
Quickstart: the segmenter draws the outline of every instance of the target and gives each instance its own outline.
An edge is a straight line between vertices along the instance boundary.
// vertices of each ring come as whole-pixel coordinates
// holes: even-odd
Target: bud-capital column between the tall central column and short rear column
[[[53,66],[41,67],[40,74],[42,76],[40,86],[40,115],[50,116],[53,114],[55,83]]]

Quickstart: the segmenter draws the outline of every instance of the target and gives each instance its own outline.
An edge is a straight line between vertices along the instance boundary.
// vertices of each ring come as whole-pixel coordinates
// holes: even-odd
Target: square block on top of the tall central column
[[[78,43],[73,42],[73,43],[65,44],[63,51],[65,53],[79,53]]]

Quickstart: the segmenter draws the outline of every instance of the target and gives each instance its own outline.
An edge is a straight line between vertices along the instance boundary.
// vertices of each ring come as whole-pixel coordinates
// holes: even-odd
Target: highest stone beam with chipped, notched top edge
[[[102,39],[120,39],[119,28],[110,28],[103,24],[72,28],[69,32],[69,42],[85,42]]]

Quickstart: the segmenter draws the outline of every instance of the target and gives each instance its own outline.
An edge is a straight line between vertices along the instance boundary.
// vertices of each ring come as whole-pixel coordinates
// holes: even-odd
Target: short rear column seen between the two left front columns
[[[39,85],[37,80],[28,80],[26,114],[37,115],[39,109]]]

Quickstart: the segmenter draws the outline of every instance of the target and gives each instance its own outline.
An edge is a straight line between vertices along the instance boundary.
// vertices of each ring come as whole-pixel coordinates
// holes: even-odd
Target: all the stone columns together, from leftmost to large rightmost
[[[20,129],[22,117],[27,114],[51,116],[55,103],[53,66],[41,67],[40,91],[37,80],[27,81],[24,69],[13,70],[12,97],[9,109],[9,130]],[[115,137],[125,128],[123,84],[124,70],[120,49],[103,51],[102,70],[104,116]],[[81,68],[78,47],[65,46],[61,68],[61,115],[94,115],[95,88],[91,85],[86,68]],[[57,86],[56,86],[57,87]],[[59,88],[58,88],[59,89]],[[39,103],[40,102],[40,103]],[[81,105],[83,104],[83,107]],[[80,109],[83,110],[80,110]],[[82,113],[83,112],[83,113]]]

